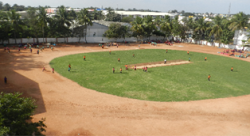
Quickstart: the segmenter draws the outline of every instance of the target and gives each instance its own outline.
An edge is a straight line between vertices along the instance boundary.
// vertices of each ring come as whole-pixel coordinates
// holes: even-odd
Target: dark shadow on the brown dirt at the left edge
[[[34,61],[36,57],[32,53],[1,53],[0,63],[0,92],[4,93],[23,93],[24,97],[32,97],[36,100],[38,108],[35,114],[46,112],[43,96],[39,84],[32,79],[27,78],[25,75],[17,73],[17,70],[30,71],[33,68],[41,68],[45,65],[42,62]],[[49,71],[48,71],[49,72]],[[7,77],[7,84],[3,82],[4,77]]]

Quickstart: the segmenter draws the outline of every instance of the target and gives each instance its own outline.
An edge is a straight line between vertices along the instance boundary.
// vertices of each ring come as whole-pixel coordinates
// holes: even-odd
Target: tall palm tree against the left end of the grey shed
[[[79,14],[78,14],[78,23],[81,25],[84,25],[84,37],[85,37],[85,42],[87,43],[87,26],[89,25],[93,25],[92,20],[91,20],[91,16],[88,12],[87,9],[82,9]]]

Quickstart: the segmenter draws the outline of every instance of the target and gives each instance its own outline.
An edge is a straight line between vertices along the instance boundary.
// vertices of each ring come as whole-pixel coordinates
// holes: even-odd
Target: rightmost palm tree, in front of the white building
[[[232,20],[231,20],[231,24],[229,25],[229,29],[232,31],[236,31],[236,30],[241,30],[241,31],[245,31],[246,27],[248,27],[248,17],[246,14],[244,14],[243,12],[240,12],[236,15],[233,16]],[[239,35],[239,31],[237,33],[237,39],[236,39],[236,44],[238,43],[238,35]]]

